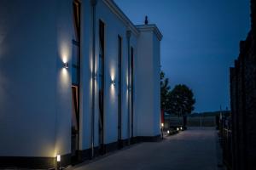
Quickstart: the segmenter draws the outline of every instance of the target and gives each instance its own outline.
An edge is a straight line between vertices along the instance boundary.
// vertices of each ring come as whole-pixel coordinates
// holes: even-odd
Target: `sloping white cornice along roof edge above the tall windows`
[[[134,26],[131,22],[131,20],[129,20],[129,18],[123,13],[123,11],[116,5],[116,3],[113,2],[113,0],[102,0],[103,3],[105,3],[108,8],[111,9],[111,11],[113,12],[113,14],[116,14],[120,20],[122,20],[125,23],[125,26],[128,27],[128,29],[131,30],[131,32],[138,37],[139,36],[139,31],[137,30],[137,27]]]

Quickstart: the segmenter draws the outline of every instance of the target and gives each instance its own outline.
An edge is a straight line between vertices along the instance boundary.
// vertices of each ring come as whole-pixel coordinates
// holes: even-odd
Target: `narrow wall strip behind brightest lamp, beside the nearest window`
[[[71,71],[73,39],[73,2],[57,0],[56,6],[56,73],[55,78],[55,156],[71,152]],[[69,64],[68,69],[63,64]]]

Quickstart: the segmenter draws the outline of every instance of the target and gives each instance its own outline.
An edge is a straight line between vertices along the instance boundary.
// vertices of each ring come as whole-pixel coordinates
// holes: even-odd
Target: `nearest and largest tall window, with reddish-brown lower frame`
[[[80,76],[80,3],[73,1],[72,46],[72,161],[78,160],[79,150],[79,76]]]

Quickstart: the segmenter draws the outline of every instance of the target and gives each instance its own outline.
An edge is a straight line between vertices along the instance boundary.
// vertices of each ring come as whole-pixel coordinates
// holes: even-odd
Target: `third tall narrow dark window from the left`
[[[118,139],[119,148],[122,147],[122,37],[118,37],[118,69],[119,69],[119,93],[118,93]]]

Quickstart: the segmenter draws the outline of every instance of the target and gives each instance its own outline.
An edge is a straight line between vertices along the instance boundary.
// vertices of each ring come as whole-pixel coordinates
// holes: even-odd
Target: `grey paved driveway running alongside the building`
[[[119,150],[75,170],[216,170],[217,133],[193,127],[158,143],[142,143]]]

